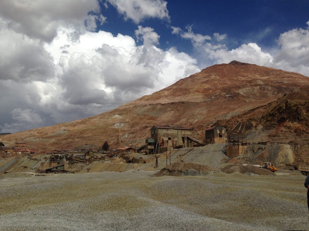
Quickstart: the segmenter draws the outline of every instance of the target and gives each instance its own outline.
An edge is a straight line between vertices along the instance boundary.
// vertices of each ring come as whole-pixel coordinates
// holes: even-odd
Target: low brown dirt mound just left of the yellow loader
[[[275,173],[271,172],[268,169],[259,168],[251,164],[248,164],[248,165],[231,164],[231,165],[228,165],[222,168],[221,171],[225,173],[234,173],[234,172],[240,172],[243,174],[253,173],[253,174],[263,175],[263,176],[271,176],[271,175],[275,176],[276,175]]]

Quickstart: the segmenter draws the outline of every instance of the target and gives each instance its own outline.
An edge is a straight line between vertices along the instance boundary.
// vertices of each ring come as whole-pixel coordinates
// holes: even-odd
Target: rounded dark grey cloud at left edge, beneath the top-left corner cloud
[[[53,58],[38,41],[5,28],[0,38],[0,79],[44,81],[54,76]]]

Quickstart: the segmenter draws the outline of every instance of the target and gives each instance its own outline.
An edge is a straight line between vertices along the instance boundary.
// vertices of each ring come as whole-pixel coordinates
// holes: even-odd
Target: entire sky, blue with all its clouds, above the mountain
[[[232,60],[309,76],[308,1],[0,2],[0,132],[98,115]]]

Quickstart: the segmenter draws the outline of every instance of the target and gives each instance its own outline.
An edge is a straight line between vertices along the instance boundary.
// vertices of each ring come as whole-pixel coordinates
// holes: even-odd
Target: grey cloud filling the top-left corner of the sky
[[[57,36],[59,24],[72,25],[78,30],[84,26],[89,11],[99,13],[96,0],[2,1],[0,14],[8,28],[30,38],[51,42]]]

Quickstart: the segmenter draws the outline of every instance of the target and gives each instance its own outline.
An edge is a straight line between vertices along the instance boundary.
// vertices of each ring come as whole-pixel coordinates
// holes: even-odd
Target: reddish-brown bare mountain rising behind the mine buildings
[[[233,61],[207,67],[175,84],[83,120],[1,136],[37,149],[144,144],[153,125],[205,128],[224,125],[252,142],[290,142],[307,136],[309,78],[297,73]],[[295,93],[296,92],[296,93]],[[290,94],[292,93],[292,95]],[[290,98],[289,98],[290,97]],[[306,98],[307,97],[307,98]],[[289,134],[289,136],[282,134]]]

